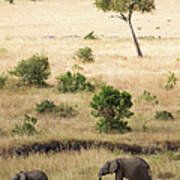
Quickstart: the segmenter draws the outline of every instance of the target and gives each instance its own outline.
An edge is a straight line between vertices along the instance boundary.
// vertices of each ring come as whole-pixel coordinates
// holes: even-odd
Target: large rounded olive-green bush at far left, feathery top
[[[48,57],[37,54],[21,60],[10,74],[20,77],[25,85],[46,85],[45,80],[50,75]]]

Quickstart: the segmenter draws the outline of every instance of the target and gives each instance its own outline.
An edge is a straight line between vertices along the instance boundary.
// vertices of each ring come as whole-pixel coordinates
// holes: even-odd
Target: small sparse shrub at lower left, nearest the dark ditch
[[[34,135],[38,131],[35,128],[35,124],[37,123],[37,119],[34,117],[30,117],[27,114],[24,115],[25,120],[22,126],[16,124],[15,128],[11,130],[12,135]]]

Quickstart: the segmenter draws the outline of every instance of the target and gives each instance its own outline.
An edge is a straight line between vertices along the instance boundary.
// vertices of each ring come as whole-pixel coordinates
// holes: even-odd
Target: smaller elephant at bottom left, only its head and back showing
[[[19,172],[14,175],[12,180],[48,180],[47,175],[39,170]]]

